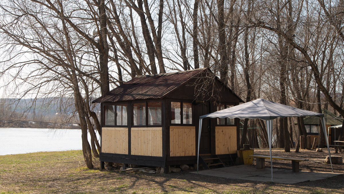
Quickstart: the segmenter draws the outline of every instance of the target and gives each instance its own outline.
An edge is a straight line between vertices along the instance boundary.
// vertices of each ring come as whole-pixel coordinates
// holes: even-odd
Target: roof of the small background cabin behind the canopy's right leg
[[[331,113],[329,110],[321,109],[322,113],[325,115],[325,125],[339,125],[343,123],[343,118]],[[308,116],[303,118],[303,123],[305,125],[319,125],[319,117]]]

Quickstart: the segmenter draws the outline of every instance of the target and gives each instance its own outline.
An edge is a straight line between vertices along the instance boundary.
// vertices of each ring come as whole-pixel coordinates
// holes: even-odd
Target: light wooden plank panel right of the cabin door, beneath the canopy
[[[216,154],[234,154],[237,151],[237,127],[215,127],[215,152]]]

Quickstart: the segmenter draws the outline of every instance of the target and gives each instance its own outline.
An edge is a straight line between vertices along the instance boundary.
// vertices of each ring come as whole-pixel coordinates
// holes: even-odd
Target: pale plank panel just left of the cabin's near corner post
[[[162,127],[132,127],[131,154],[162,156]]]

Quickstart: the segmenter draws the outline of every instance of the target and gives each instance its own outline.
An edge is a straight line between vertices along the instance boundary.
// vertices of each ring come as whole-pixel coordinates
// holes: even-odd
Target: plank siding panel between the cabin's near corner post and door
[[[170,156],[195,156],[194,126],[170,126]]]

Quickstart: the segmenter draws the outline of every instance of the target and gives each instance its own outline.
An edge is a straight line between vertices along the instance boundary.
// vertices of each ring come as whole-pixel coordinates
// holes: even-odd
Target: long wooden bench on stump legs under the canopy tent
[[[250,155],[250,157],[257,158],[256,164],[257,168],[265,168],[265,159],[270,159],[270,156],[265,155]],[[308,159],[302,158],[289,158],[289,157],[280,157],[280,156],[272,156],[272,159],[282,159],[282,160],[291,160],[291,167],[293,172],[300,171],[300,162],[309,161]]]

